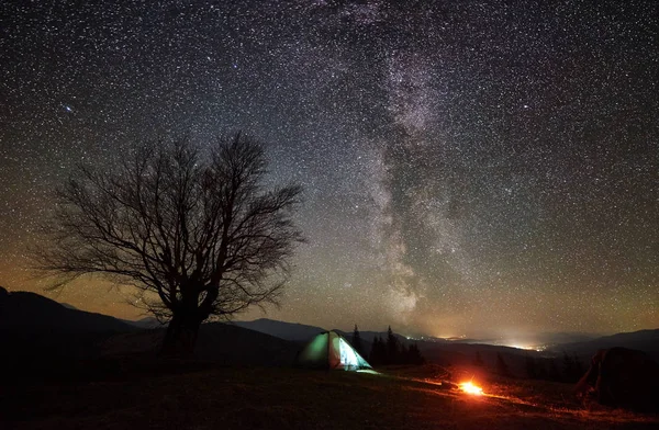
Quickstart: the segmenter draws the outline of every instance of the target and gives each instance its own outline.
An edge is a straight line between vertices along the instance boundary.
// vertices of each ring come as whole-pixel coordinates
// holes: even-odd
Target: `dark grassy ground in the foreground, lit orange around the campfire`
[[[571,385],[469,367],[381,374],[204,367],[38,378],[0,385],[0,428],[15,429],[643,429],[659,417],[578,401]],[[472,396],[443,380],[474,378]]]

